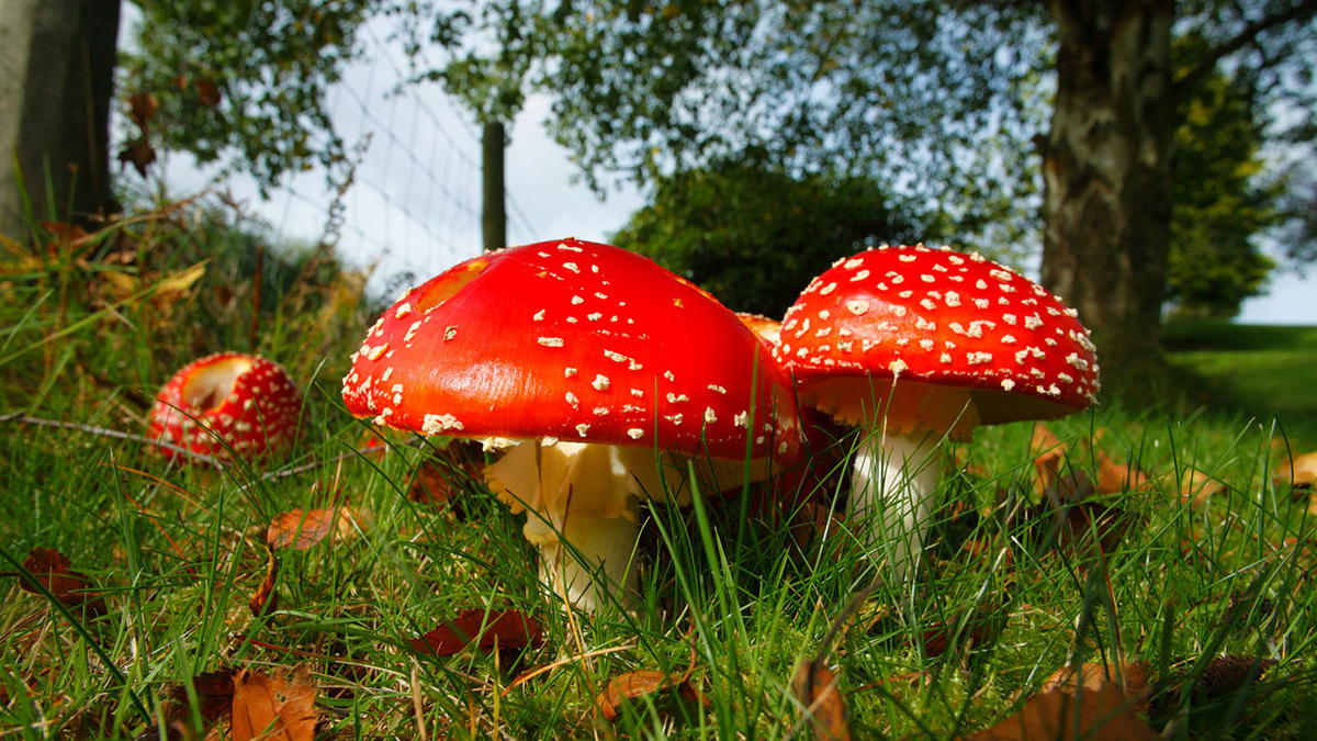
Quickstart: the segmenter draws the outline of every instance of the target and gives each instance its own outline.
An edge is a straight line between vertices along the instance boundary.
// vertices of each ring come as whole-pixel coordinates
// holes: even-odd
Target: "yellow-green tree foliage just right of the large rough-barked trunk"
[[[1177,312],[1234,316],[1263,293],[1275,262],[1258,244],[1279,223],[1283,182],[1262,183],[1263,120],[1225,75],[1181,104],[1175,137],[1175,211],[1167,298]]]

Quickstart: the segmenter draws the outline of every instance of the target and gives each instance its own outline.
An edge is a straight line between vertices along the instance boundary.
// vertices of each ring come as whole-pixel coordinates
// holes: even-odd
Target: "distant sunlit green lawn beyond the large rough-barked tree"
[[[1210,403],[1317,430],[1317,327],[1196,320],[1168,324],[1163,338],[1171,361],[1205,381]]]

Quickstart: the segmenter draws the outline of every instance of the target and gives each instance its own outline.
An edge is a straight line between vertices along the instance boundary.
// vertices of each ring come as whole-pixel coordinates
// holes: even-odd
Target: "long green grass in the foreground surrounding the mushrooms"
[[[163,265],[124,269],[148,276],[195,257],[166,261],[165,241],[141,244]],[[216,285],[244,290],[225,265],[216,256],[166,322],[146,299],[107,305],[95,274],[71,260],[0,264],[0,414],[140,432],[144,394],[191,355],[245,341],[249,303],[216,303]],[[1306,712],[1314,527],[1306,501],[1271,481],[1279,435],[1264,415],[1106,405],[1052,423],[1073,469],[1096,476],[1098,450],[1155,476],[1144,490],[1098,500],[1127,523],[1101,559],[1083,543],[1058,546],[1055,519],[1015,506],[1033,510],[1039,497],[1031,430],[1013,425],[955,446],[968,463],[944,481],[918,581],[878,581],[853,612],[873,570],[844,531],[799,547],[778,518],[740,521],[732,496],[652,508],[641,607],[569,617],[537,581],[520,518],[489,492],[468,487],[461,516],[407,496],[432,450],[337,460],[369,434],[337,398],[373,319],[344,291],[325,280],[262,305],[274,331],[258,348],[307,396],[307,434],[284,464],[312,464],[303,473],[215,472],[133,440],[0,422],[0,551],[11,560],[0,571],[33,547],[58,548],[108,605],[83,616],[16,578],[0,581],[0,732],[136,738],[190,678],[302,665],[319,686],[320,738],[416,738],[421,726],[432,738],[809,737],[790,684],[801,662],[822,657],[838,671],[855,737],[954,737],[1017,711],[1067,661],[1102,655],[1152,666],[1152,721],[1171,736],[1317,732]],[[1172,479],[1191,467],[1225,490],[1183,502]],[[842,487],[828,479],[815,497]],[[360,527],[278,551],[277,607],[254,616],[265,527],[332,504],[350,506]],[[449,658],[408,649],[466,608],[524,612],[548,641],[516,666],[474,649]],[[1221,654],[1279,663],[1256,686],[1195,692]],[[624,704],[616,721],[597,712],[610,679],[682,671],[691,657],[703,704],[658,694]],[[536,668],[545,671],[508,690]]]

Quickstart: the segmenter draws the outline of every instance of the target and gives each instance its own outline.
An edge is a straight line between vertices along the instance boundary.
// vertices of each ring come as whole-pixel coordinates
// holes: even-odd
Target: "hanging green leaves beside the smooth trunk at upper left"
[[[313,166],[332,183],[350,169],[327,94],[363,57],[362,24],[424,12],[407,0],[134,0],[134,51],[120,55],[122,86],[154,95],[144,136],[255,177],[263,187]],[[398,33],[411,26],[400,22]],[[155,137],[155,138],[153,138]]]

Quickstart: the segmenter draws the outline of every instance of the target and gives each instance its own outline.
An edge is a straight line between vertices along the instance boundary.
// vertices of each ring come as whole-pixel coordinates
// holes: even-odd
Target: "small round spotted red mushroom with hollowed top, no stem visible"
[[[219,460],[228,460],[230,451],[254,459],[292,443],[300,411],[302,396],[282,365],[217,352],[184,365],[165,384],[148,436]]]

